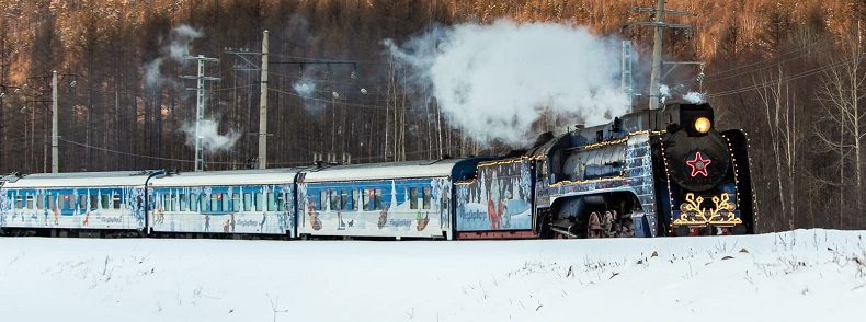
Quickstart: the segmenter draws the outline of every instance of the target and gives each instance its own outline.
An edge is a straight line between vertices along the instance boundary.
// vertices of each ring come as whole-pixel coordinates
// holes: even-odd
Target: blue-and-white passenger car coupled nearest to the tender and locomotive
[[[487,159],[333,165],[298,179],[298,233],[308,237],[447,238],[453,182]]]

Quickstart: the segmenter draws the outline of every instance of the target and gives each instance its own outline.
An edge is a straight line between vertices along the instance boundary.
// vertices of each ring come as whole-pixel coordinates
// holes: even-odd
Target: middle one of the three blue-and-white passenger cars
[[[295,237],[297,170],[185,172],[151,180],[149,227],[159,233]]]

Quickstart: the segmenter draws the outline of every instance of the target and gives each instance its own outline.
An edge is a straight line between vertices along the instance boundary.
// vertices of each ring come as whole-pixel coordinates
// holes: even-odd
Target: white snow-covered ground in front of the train
[[[864,234],[469,242],[2,238],[0,320],[858,321],[866,314]]]

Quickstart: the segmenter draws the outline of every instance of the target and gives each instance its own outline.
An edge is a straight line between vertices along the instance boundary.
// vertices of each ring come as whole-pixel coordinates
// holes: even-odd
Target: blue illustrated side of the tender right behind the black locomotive
[[[478,166],[477,180],[458,184],[457,231],[532,229],[529,159]]]

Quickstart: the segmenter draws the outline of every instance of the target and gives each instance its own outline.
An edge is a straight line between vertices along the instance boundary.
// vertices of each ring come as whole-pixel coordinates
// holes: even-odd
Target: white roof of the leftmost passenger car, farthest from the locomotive
[[[64,172],[9,174],[0,177],[4,188],[79,186],[144,186],[151,171]]]

